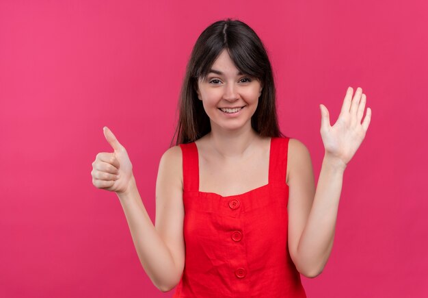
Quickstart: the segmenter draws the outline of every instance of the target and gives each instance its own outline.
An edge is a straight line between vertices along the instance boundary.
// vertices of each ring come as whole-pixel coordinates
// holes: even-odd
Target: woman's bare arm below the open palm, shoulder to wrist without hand
[[[297,270],[316,277],[332,251],[344,169],[325,156],[315,192],[309,151],[290,142],[289,250]]]

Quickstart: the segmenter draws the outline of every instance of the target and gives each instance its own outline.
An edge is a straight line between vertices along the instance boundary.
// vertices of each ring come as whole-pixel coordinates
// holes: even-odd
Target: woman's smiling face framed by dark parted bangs
[[[198,98],[209,116],[211,130],[250,129],[262,86],[255,77],[241,73],[224,49],[206,79],[198,80]]]

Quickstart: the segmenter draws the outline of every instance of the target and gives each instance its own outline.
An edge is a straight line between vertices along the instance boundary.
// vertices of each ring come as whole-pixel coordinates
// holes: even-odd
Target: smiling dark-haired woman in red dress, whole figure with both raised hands
[[[174,297],[306,297],[332,250],[343,173],[371,119],[348,88],[338,121],[321,109],[325,156],[315,191],[308,149],[280,133],[271,64],[241,21],[207,27],[180,97],[177,145],[159,164],[156,221],[142,203],[125,148],[98,153],[93,184],[116,192],[139,260]]]

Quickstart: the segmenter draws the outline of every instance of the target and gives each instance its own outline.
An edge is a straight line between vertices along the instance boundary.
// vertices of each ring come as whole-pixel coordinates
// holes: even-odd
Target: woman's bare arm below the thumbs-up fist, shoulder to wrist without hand
[[[118,193],[138,258],[150,280],[167,292],[178,284],[184,269],[183,188],[181,150],[166,151],[159,164],[156,184],[156,227],[139,196],[135,179]]]

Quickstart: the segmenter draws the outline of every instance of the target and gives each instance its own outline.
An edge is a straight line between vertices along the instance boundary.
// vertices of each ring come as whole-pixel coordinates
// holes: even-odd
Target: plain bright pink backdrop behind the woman
[[[373,109],[345,172],[332,255],[308,297],[427,297],[428,2],[0,1],[0,296],[171,297],[139,263],[114,193],[92,185],[107,125],[152,221],[187,59],[239,18],[269,51],[282,132],[323,145],[348,86]]]

